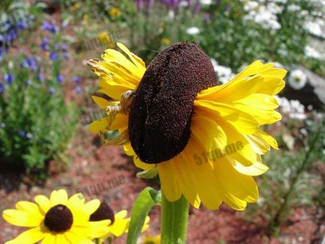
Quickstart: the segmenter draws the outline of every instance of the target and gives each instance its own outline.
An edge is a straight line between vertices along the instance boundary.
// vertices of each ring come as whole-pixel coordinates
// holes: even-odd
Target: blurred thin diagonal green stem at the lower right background
[[[307,168],[307,166],[309,165],[309,163],[312,162],[312,160],[310,160],[311,152],[313,150],[319,149],[315,146],[315,144],[318,141],[318,139],[321,138],[322,133],[325,133],[324,128],[325,128],[325,120],[323,119],[317,126],[315,134],[311,138],[310,143],[308,145],[306,145],[306,146],[308,146],[308,150],[305,152],[301,164],[299,165],[299,167],[296,170],[296,173],[293,175],[293,177],[291,179],[289,189],[286,192],[286,194],[283,196],[283,201],[282,201],[280,207],[278,208],[277,212],[274,214],[274,217],[268,224],[267,229],[270,231],[271,235],[278,234],[279,226],[281,225],[281,223],[284,220],[283,214],[287,210],[288,206],[290,205],[290,200],[291,200],[291,197],[295,191],[296,183],[297,183],[298,179],[300,178],[300,175],[302,174],[302,172],[304,172],[305,169]]]

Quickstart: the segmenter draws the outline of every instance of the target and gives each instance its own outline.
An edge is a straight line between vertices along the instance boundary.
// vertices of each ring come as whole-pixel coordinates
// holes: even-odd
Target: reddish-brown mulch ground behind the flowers
[[[92,141],[90,140],[92,138]],[[92,143],[91,143],[92,142]],[[49,177],[43,185],[30,185],[28,180],[12,173],[0,173],[0,210],[12,208],[18,200],[32,200],[36,194],[49,195],[50,191],[65,188],[70,194],[77,187],[105,182],[113,177],[123,175],[126,182],[118,187],[103,191],[92,197],[105,199],[114,211],[127,209],[130,211],[132,202],[138,192],[145,186],[158,186],[135,177],[137,169],[130,158],[123,154],[117,146],[97,147],[96,136],[89,134],[86,127],[81,128],[74,141],[74,147],[68,154],[72,164],[63,172],[57,172],[55,162],[51,162]],[[80,146],[82,145],[82,146]],[[90,197],[87,197],[90,199]],[[159,232],[159,207],[150,211],[150,228],[147,233]],[[278,238],[269,238],[263,224],[246,223],[238,213],[222,205],[217,211],[205,207],[190,209],[187,243],[320,243],[325,233],[324,216],[312,209],[297,208],[289,220],[282,226]],[[23,228],[12,227],[1,218],[0,243],[16,236]],[[125,235],[114,243],[125,243]],[[220,241],[220,242],[218,242]],[[224,243],[223,242],[223,243]]]

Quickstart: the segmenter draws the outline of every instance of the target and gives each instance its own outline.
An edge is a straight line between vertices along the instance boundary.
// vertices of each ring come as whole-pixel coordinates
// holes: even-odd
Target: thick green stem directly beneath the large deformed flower
[[[170,202],[161,191],[161,244],[185,243],[188,207],[183,195]]]

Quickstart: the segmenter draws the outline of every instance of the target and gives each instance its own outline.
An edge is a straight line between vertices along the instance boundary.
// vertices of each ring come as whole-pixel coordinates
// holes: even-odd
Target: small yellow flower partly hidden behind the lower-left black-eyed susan
[[[130,218],[126,217],[127,210],[121,210],[114,214],[110,206],[102,201],[99,207],[90,215],[90,221],[110,220],[107,231],[99,237],[99,243],[103,243],[108,237],[118,237],[127,232]],[[148,228],[149,217],[145,218],[142,231]]]

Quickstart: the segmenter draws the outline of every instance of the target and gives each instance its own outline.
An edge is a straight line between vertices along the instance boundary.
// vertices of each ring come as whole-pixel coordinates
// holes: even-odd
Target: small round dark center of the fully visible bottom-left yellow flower
[[[64,232],[71,228],[73,215],[71,210],[62,204],[51,207],[45,214],[44,225],[55,232]]]

